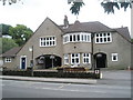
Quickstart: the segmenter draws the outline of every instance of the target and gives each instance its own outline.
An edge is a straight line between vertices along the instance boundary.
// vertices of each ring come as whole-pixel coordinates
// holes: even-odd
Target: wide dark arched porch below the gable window
[[[61,58],[55,54],[42,54],[37,58],[37,62],[42,69],[61,67]]]

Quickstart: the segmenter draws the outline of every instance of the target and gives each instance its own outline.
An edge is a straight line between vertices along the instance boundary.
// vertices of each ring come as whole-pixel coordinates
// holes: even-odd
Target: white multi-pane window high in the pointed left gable
[[[40,47],[52,47],[55,44],[57,44],[55,37],[40,38]]]

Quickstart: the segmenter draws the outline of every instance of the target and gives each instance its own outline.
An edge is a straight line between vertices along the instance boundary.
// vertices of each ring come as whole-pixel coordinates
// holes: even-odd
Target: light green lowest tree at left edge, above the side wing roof
[[[0,53],[4,53],[13,47],[18,47],[13,39],[0,38]]]

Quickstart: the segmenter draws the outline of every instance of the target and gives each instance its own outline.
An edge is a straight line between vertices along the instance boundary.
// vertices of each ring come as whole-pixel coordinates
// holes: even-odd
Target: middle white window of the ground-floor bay
[[[80,64],[80,53],[71,53],[71,64]]]

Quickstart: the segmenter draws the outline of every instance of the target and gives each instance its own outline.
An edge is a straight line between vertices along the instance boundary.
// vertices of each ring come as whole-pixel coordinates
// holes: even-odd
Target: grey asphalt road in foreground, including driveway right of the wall
[[[2,80],[3,98],[130,98],[130,71],[104,71],[96,84]]]

